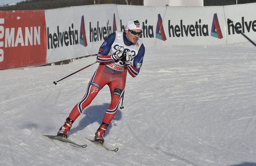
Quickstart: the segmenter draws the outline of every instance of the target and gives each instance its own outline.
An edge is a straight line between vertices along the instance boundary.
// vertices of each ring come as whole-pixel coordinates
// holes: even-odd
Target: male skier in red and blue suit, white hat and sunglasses
[[[60,128],[58,136],[68,137],[68,131],[83,109],[92,102],[105,85],[108,85],[111,103],[94,138],[95,141],[104,143],[105,131],[115,117],[124,93],[126,71],[132,77],[136,77],[143,63],[145,47],[139,40],[141,33],[139,21],[133,19],[127,22],[125,32],[116,31],[106,38],[99,48],[97,55],[99,65],[89,82],[86,94],[70,112],[64,125]]]

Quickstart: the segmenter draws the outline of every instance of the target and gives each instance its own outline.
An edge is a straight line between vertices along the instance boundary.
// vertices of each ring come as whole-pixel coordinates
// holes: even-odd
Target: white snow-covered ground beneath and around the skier
[[[110,102],[104,87],[69,138],[53,141],[83,97],[94,62],[0,71],[0,165],[256,165],[256,48],[251,44],[146,48],[136,78],[127,77],[105,144],[93,139]]]

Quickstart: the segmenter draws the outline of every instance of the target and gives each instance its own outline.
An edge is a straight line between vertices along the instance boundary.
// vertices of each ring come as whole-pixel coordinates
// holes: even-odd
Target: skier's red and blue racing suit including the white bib
[[[131,65],[126,66],[123,61],[115,62],[111,58],[111,55],[116,52],[119,45],[124,46],[124,51],[126,49],[131,51],[133,55]],[[117,113],[120,99],[124,93],[126,70],[132,77],[136,77],[143,63],[144,53],[145,47],[140,40],[136,43],[131,43],[126,38],[125,32],[116,31],[110,34],[99,48],[97,55],[99,65],[89,82],[86,94],[73,108],[68,118],[75,121],[98,92],[105,85],[108,85],[111,93],[111,103],[104,115],[103,122],[109,124]]]

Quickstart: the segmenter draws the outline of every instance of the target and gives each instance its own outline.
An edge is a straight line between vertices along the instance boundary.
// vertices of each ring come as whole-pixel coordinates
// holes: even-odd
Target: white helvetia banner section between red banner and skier
[[[116,5],[89,5],[45,10],[47,62],[97,54],[116,31]]]

